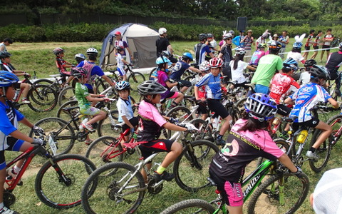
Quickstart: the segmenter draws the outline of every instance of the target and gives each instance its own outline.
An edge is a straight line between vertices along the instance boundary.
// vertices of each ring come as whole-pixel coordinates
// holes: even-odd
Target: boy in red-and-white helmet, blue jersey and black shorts
[[[229,116],[227,108],[225,108],[221,103],[222,96],[222,84],[221,84],[221,71],[223,66],[223,61],[221,58],[212,58],[209,61],[210,72],[195,85],[195,97],[196,100],[199,98],[199,87],[205,86],[205,91],[207,93],[207,105],[210,111],[215,112],[215,114],[221,116],[224,119],[221,130],[219,131],[219,136],[217,136],[217,145],[224,145],[225,141],[222,139],[224,133],[229,128],[232,121],[232,116]]]

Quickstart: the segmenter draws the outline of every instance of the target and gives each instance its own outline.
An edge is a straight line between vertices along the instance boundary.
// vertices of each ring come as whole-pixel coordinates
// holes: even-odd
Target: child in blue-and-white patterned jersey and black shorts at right
[[[326,141],[331,135],[332,129],[328,124],[319,121],[318,118],[312,116],[311,109],[314,108],[318,102],[328,101],[333,108],[338,108],[338,103],[331,98],[329,93],[322,87],[326,83],[326,79],[328,79],[326,68],[314,65],[310,68],[309,72],[311,75],[310,83],[306,83],[306,85],[299,88],[292,96],[286,98],[285,103],[294,105],[290,117],[298,117],[296,121],[294,121],[295,130],[298,129],[299,126],[309,126],[321,130],[321,135],[318,136],[314,145],[312,145],[306,153],[308,158],[317,161],[319,157],[317,156],[316,150],[321,146],[323,141]]]

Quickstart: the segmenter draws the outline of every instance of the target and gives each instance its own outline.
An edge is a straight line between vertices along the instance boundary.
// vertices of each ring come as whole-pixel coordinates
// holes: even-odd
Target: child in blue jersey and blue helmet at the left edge
[[[14,98],[15,89],[14,84],[19,81],[19,78],[14,73],[8,71],[0,71],[0,132],[1,132],[1,146],[0,146],[0,214],[12,213],[16,214],[14,210],[10,210],[4,206],[4,182],[6,178],[6,159],[5,151],[21,151],[24,152],[31,148],[31,143],[43,145],[43,140],[40,138],[30,138],[26,134],[18,130],[18,122],[32,128],[35,133],[43,133],[43,130],[37,126],[33,126],[24,115],[17,111],[11,103]],[[24,159],[18,161],[14,168],[8,169],[8,174],[13,178],[19,173]]]

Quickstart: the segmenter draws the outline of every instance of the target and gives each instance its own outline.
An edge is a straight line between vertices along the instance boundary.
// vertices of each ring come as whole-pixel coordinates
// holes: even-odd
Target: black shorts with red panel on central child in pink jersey
[[[155,141],[148,141],[147,143],[140,144],[139,148],[142,157],[145,159],[152,155],[152,153],[170,152],[173,142],[175,141],[157,139]]]

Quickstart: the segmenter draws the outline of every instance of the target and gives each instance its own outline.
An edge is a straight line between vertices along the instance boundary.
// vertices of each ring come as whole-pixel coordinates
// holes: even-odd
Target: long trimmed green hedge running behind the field
[[[9,25],[1,27],[0,40],[6,37],[20,42],[42,42],[42,41],[61,41],[61,42],[76,42],[76,41],[102,41],[108,32],[120,26],[120,24],[53,24],[43,26],[21,26]],[[197,35],[200,33],[212,33],[219,40],[222,36],[222,31],[226,29],[223,26],[202,26],[202,25],[185,25],[185,24],[166,24],[164,22],[156,22],[150,26],[152,29],[165,27],[167,36],[170,40],[177,41],[194,41],[197,40]],[[331,28],[333,35],[342,35],[342,26],[316,26],[316,31]],[[308,24],[302,26],[252,26],[254,38],[259,37],[266,29],[269,29],[271,34],[281,34],[281,31],[288,31],[289,36],[294,37],[301,34],[309,34],[313,29]],[[235,31],[236,34],[238,31]]]

